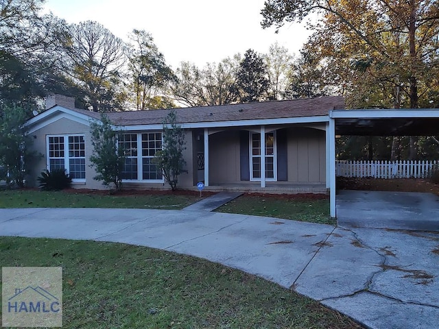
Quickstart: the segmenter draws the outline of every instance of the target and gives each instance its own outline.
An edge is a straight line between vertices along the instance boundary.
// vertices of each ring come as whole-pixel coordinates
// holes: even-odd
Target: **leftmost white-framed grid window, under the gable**
[[[47,136],[47,169],[65,169],[72,180],[85,180],[84,135]]]

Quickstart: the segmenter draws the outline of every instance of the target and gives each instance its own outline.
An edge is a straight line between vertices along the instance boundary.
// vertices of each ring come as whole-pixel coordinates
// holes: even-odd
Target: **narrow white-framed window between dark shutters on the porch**
[[[252,180],[261,179],[261,134],[251,132],[250,173]],[[276,134],[265,134],[265,179],[276,180]]]

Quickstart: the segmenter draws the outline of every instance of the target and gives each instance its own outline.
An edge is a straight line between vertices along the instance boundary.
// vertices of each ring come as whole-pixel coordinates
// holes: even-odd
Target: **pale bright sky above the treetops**
[[[278,34],[262,29],[264,0],[46,0],[45,9],[68,23],[97,21],[127,40],[132,29],[154,38],[167,64],[204,66],[252,48],[266,53],[274,42],[298,53],[307,40],[305,24],[287,24]]]

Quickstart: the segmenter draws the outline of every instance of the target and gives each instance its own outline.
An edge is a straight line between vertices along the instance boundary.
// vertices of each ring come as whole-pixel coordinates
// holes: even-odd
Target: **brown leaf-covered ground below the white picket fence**
[[[337,189],[361,191],[424,192],[439,195],[439,184],[429,180],[399,178],[383,180],[379,178],[337,177]]]

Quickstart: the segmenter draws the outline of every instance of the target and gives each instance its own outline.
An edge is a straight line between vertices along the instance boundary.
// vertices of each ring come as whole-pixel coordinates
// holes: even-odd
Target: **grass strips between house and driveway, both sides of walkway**
[[[127,193],[127,192],[125,192]],[[182,209],[200,200],[198,192],[134,195],[102,195],[72,191],[0,191],[0,208],[141,208]],[[241,195],[218,208],[218,212],[277,217],[335,225],[329,216],[329,200],[300,195]]]

